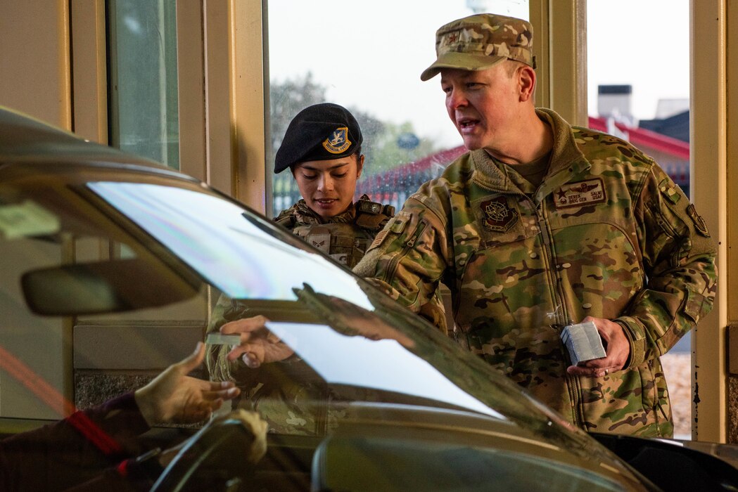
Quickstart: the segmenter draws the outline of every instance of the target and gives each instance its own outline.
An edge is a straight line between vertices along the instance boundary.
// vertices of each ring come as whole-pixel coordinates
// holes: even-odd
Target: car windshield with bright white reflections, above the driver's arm
[[[208,340],[194,374],[235,381],[227,410],[258,412],[270,439],[320,442],[378,416],[448,426],[455,415],[543,454],[610,459],[366,280],[196,181],[74,170],[7,179],[0,255],[0,417],[17,419],[15,430],[139,387]],[[229,358],[230,323],[250,327],[259,364]],[[541,466],[543,477],[553,465]]]

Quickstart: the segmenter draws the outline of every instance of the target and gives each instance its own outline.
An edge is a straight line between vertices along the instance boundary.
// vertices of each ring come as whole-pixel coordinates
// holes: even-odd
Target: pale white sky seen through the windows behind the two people
[[[484,2],[527,16],[525,0],[269,0],[270,77],[311,72],[331,102],[460,145],[438,77],[420,73],[435,60],[435,30]],[[587,39],[590,114],[599,84],[632,85],[637,119],[655,117],[660,98],[689,97],[689,0],[588,0]]]

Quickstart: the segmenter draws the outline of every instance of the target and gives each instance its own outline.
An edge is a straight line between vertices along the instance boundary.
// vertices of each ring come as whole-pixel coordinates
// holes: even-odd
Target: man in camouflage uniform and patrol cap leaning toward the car
[[[354,271],[413,311],[441,280],[456,338],[574,425],[669,437],[659,356],[711,309],[704,221],[629,142],[535,108],[533,29],[472,15],[436,32],[446,110],[468,153],[424,184]],[[606,355],[572,365],[562,328]]]

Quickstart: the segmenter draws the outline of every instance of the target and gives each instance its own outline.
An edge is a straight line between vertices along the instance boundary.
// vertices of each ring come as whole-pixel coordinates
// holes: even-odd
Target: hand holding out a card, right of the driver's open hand
[[[240,357],[246,367],[255,369],[261,364],[283,361],[292,356],[294,351],[266,328],[268,321],[260,315],[236,319],[221,326],[224,335],[241,336],[241,344],[228,353],[228,360],[235,361]]]

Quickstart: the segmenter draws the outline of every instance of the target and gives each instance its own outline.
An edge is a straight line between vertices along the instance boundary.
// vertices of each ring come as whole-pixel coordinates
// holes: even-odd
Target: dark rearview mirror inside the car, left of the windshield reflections
[[[182,277],[139,258],[28,271],[21,287],[30,310],[46,316],[154,308],[197,293]]]

